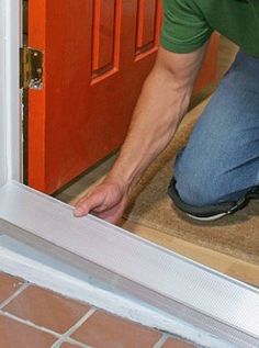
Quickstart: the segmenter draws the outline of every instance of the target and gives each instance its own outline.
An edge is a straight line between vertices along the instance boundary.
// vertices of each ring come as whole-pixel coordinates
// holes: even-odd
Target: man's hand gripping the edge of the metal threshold
[[[128,193],[119,182],[104,180],[92,188],[76,205],[75,216],[80,217],[91,213],[100,218],[115,224],[126,207]]]

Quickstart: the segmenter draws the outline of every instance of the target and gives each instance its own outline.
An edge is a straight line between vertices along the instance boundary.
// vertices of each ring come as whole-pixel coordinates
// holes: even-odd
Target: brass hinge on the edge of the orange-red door
[[[30,47],[20,48],[20,88],[42,89],[43,53]]]

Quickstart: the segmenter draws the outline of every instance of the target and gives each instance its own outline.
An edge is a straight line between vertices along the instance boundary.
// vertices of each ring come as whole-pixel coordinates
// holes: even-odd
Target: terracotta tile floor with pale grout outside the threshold
[[[1,348],[194,348],[0,272]]]

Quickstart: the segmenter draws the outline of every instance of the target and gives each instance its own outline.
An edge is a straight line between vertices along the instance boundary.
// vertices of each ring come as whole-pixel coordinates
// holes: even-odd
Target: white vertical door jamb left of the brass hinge
[[[0,183],[20,181],[20,0],[0,0]],[[3,149],[3,150],[2,150]]]

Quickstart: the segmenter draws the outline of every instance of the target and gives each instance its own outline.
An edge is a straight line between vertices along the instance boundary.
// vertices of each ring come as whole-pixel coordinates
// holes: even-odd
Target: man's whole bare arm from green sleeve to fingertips
[[[122,216],[128,192],[172,139],[187,112],[205,46],[189,54],[159,49],[120,156],[103,183],[78,202],[76,216],[91,212],[111,223]]]

